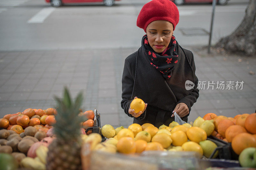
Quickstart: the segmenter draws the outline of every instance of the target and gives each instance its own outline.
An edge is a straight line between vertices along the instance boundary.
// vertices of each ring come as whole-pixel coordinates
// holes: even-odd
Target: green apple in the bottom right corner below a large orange
[[[243,167],[256,168],[256,148],[245,148],[240,153],[238,160]]]

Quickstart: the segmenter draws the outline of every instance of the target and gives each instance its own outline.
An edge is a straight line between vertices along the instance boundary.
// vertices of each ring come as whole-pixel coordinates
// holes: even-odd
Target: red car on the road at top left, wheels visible
[[[76,3],[88,3],[88,2],[104,2],[106,6],[114,5],[115,1],[120,0],[45,0],[47,3],[51,3],[53,7],[59,7],[62,4],[76,4]]]

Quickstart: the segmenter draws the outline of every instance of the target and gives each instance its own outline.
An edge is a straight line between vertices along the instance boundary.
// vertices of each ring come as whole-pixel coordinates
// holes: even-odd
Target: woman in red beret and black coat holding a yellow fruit
[[[137,19],[144,29],[141,47],[125,59],[122,77],[121,107],[133,123],[169,126],[176,113],[185,122],[191,106],[199,96],[193,53],[179,46],[173,31],[179,22],[179,11],[170,0],[152,0],[145,4]],[[185,84],[192,81],[193,89]],[[145,108],[134,113],[134,98],[145,102]]]

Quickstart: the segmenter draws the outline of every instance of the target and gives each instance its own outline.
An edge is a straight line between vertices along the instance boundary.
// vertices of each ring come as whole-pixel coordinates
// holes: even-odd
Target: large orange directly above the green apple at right
[[[255,138],[249,133],[240,133],[231,142],[232,149],[240,154],[245,148],[256,147]]]

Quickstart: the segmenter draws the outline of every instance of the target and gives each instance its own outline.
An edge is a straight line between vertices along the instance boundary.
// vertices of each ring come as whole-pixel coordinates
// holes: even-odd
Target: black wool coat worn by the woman
[[[178,43],[177,47],[179,60],[172,70],[172,77],[168,80],[151,66],[141,47],[125,59],[121,107],[129,117],[132,117],[128,110],[135,96],[148,103],[147,109],[140,117],[134,117],[133,123],[151,123],[156,127],[162,124],[169,126],[174,121],[171,115],[178,103],[187,104],[190,113],[199,96],[199,90],[196,89],[196,66],[193,53],[183,49]],[[187,80],[195,84],[193,89],[185,89]],[[187,122],[188,115],[181,119]]]

